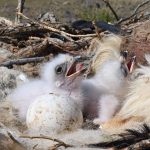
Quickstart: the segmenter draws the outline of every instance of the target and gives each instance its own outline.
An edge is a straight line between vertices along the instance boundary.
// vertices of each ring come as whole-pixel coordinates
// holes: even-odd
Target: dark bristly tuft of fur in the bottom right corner
[[[89,147],[99,148],[115,148],[115,149],[150,149],[150,127],[143,124],[140,130],[127,129],[125,133],[119,134],[116,140],[101,142],[97,144],[90,144]],[[136,148],[135,148],[136,147]]]

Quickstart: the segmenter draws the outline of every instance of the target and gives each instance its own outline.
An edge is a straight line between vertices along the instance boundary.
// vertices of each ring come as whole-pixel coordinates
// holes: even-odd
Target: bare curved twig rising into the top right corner
[[[121,24],[122,22],[131,19],[132,17],[134,17],[134,16],[137,14],[138,10],[139,10],[141,7],[143,7],[144,5],[148,4],[149,2],[150,2],[150,0],[147,0],[147,1],[145,1],[145,2],[142,2],[141,4],[139,4],[139,5],[134,9],[133,13],[132,13],[130,16],[128,16],[128,17],[126,17],[126,18],[124,18],[124,19],[121,18],[116,24]]]

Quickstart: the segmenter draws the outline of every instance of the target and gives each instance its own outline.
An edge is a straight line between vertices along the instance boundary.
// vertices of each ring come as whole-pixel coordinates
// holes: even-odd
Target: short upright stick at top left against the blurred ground
[[[25,3],[25,0],[18,0],[17,14],[15,18],[16,23],[20,23],[21,17],[18,15],[18,13],[23,13],[24,3]]]

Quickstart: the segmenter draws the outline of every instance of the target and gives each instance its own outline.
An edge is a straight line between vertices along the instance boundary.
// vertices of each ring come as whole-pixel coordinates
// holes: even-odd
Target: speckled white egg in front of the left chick
[[[82,125],[80,108],[69,96],[46,94],[30,104],[26,124],[30,131],[40,134],[73,130]]]

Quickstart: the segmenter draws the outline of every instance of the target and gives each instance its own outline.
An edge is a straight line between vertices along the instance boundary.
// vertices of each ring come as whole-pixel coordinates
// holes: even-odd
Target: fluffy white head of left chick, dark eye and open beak
[[[52,87],[68,90],[79,87],[85,70],[84,63],[71,55],[60,54],[43,66],[41,77]]]

